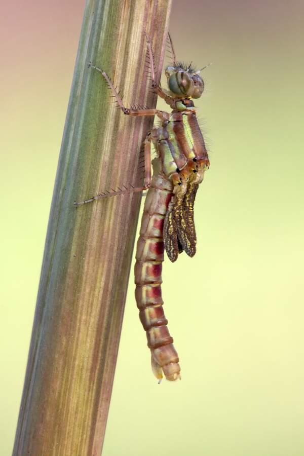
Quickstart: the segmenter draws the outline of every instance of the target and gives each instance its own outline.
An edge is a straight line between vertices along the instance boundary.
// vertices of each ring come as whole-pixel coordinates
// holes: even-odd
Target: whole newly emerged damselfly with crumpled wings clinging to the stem
[[[126,115],[156,115],[161,121],[161,127],[153,128],[145,139],[144,184],[131,190],[97,195],[75,205],[106,196],[148,189],[136,249],[135,298],[151,351],[152,369],[160,383],[163,373],[170,381],[180,378],[179,358],[163,311],[161,274],[164,250],[166,249],[171,261],[175,261],[183,250],[189,256],[196,253],[193,206],[198,186],[203,180],[205,170],[209,168],[209,160],[192,101],[192,98],[199,98],[204,90],[204,83],[199,75],[201,70],[195,71],[191,66],[176,62],[169,36],[173,64],[165,70],[169,90],[164,92],[156,84],[153,54],[147,35],[146,39],[151,62],[152,88],[170,105],[171,113],[159,109],[126,108],[107,74],[89,64],[102,73]],[[157,154],[152,162],[153,178],[150,162],[151,141]]]

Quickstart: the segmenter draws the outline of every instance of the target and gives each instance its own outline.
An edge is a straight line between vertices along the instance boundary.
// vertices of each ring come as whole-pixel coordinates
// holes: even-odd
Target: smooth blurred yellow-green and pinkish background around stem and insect
[[[1,9],[6,456],[84,0]],[[158,385],[151,374],[131,275],[103,456],[304,454],[303,15],[302,0],[173,0],[178,59],[213,63],[197,103],[211,162],[195,207],[197,255],[166,260],[163,274],[182,380]]]

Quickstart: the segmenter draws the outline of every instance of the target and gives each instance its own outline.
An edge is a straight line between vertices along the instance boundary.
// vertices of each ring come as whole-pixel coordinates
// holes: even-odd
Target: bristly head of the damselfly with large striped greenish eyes
[[[180,98],[200,98],[204,81],[191,65],[177,63],[165,70],[170,91]]]

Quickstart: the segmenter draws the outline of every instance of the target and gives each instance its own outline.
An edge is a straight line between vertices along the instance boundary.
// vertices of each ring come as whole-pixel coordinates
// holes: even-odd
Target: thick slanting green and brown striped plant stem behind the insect
[[[130,273],[139,194],[82,201],[142,185],[139,149],[153,118],[145,30],[160,77],[171,0],[87,1],[60,152],[13,456],[100,455]]]

